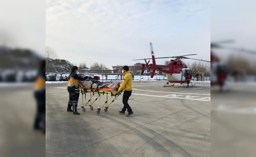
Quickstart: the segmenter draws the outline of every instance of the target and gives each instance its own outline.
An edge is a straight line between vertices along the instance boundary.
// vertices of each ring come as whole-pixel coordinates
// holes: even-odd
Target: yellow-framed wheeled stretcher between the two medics
[[[93,110],[93,106],[92,104],[99,98],[99,106],[97,108],[97,113],[99,114],[101,111],[101,108],[104,107],[104,111],[107,112],[108,111],[108,107],[110,106],[110,104],[112,104],[115,99],[117,99],[117,97],[119,95],[121,95],[121,93],[117,93],[116,89],[112,89],[112,88],[101,88],[101,89],[97,89],[97,85],[93,85],[93,84],[86,84],[85,86],[82,84],[82,82],[79,81],[79,89],[75,89],[76,93],[82,93],[82,111],[85,112],[85,106],[89,105],[90,106],[90,110]],[[88,102],[86,102],[84,104],[84,97],[83,95],[86,93],[90,94],[90,99],[88,100]],[[92,98],[94,95],[97,95],[96,99],[92,102]],[[101,105],[101,95],[106,95],[106,101],[104,102],[104,104]],[[110,102],[110,104],[108,104],[108,101],[112,98],[115,97],[112,102]],[[108,98],[109,97],[109,98]],[[85,97],[86,100],[86,97]],[[90,103],[89,103],[90,102]]]

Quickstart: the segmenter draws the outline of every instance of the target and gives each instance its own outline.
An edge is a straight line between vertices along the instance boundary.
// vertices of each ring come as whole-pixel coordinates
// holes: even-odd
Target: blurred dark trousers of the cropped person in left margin
[[[35,117],[35,122],[34,122],[34,128],[38,129],[40,128],[40,123],[42,124],[41,129],[45,132],[46,130],[46,125],[45,125],[45,92],[46,90],[40,90],[40,91],[35,91],[34,96],[35,99],[37,100],[37,113]]]

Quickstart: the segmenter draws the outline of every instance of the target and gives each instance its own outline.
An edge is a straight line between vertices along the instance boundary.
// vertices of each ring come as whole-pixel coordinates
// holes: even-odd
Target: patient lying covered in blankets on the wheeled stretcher
[[[101,82],[92,77],[88,77],[88,79],[84,81],[80,81],[85,88],[95,89],[95,90],[109,90],[109,91],[118,91],[120,87],[120,82],[115,83],[112,81]]]

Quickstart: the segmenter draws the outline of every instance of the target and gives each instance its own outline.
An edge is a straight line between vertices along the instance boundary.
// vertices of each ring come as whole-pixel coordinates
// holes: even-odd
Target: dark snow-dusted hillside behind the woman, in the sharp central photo
[[[73,64],[64,59],[46,59],[46,73],[69,73]]]

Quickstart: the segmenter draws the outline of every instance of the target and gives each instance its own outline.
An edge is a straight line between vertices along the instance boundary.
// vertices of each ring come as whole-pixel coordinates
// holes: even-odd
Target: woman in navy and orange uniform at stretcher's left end
[[[73,66],[71,69],[71,73],[68,77],[68,93],[69,93],[69,101],[68,101],[68,112],[73,112],[74,115],[80,115],[80,113],[77,112],[77,103],[79,98],[79,93],[75,93],[75,89],[79,88],[78,82],[79,80],[86,80],[88,76],[86,77],[79,77],[78,74],[79,69],[77,66]],[[73,110],[71,110],[71,106],[73,105]]]

